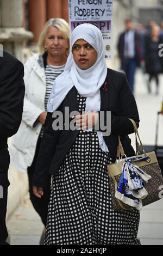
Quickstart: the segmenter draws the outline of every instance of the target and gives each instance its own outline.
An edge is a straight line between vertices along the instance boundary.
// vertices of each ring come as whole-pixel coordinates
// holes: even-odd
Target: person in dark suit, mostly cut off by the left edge
[[[8,168],[10,156],[8,137],[14,135],[21,123],[24,99],[23,64],[10,53],[0,57],[0,245],[8,245],[5,216],[8,197]]]

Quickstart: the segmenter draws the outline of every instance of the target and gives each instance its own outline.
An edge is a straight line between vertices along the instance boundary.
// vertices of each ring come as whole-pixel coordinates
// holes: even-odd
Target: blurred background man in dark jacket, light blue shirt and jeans
[[[134,76],[137,66],[144,60],[143,46],[139,34],[135,31],[133,21],[126,20],[126,31],[118,39],[118,54],[121,59],[121,69],[126,72],[126,76],[134,92]]]

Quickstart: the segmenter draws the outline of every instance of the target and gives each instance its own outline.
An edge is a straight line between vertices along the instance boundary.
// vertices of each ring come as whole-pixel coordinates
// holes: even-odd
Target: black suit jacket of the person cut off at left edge
[[[0,149],[20,126],[24,99],[24,67],[10,53],[0,57]]]

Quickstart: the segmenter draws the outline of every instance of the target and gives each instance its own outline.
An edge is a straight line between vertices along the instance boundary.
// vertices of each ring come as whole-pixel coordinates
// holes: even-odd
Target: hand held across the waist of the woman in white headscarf
[[[98,122],[98,112],[90,112],[82,115],[74,115],[78,130],[86,130],[94,127]]]

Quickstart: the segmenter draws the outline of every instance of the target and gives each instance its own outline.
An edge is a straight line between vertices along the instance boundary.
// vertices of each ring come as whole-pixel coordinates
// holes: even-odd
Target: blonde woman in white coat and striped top
[[[26,94],[22,123],[10,147],[11,164],[22,173],[28,172],[30,200],[45,227],[51,179],[49,177],[41,200],[33,194],[32,179],[47,115],[48,98],[55,78],[64,71],[69,39],[70,29],[65,20],[50,19],[46,22],[39,38],[39,54],[34,54],[24,65]]]

